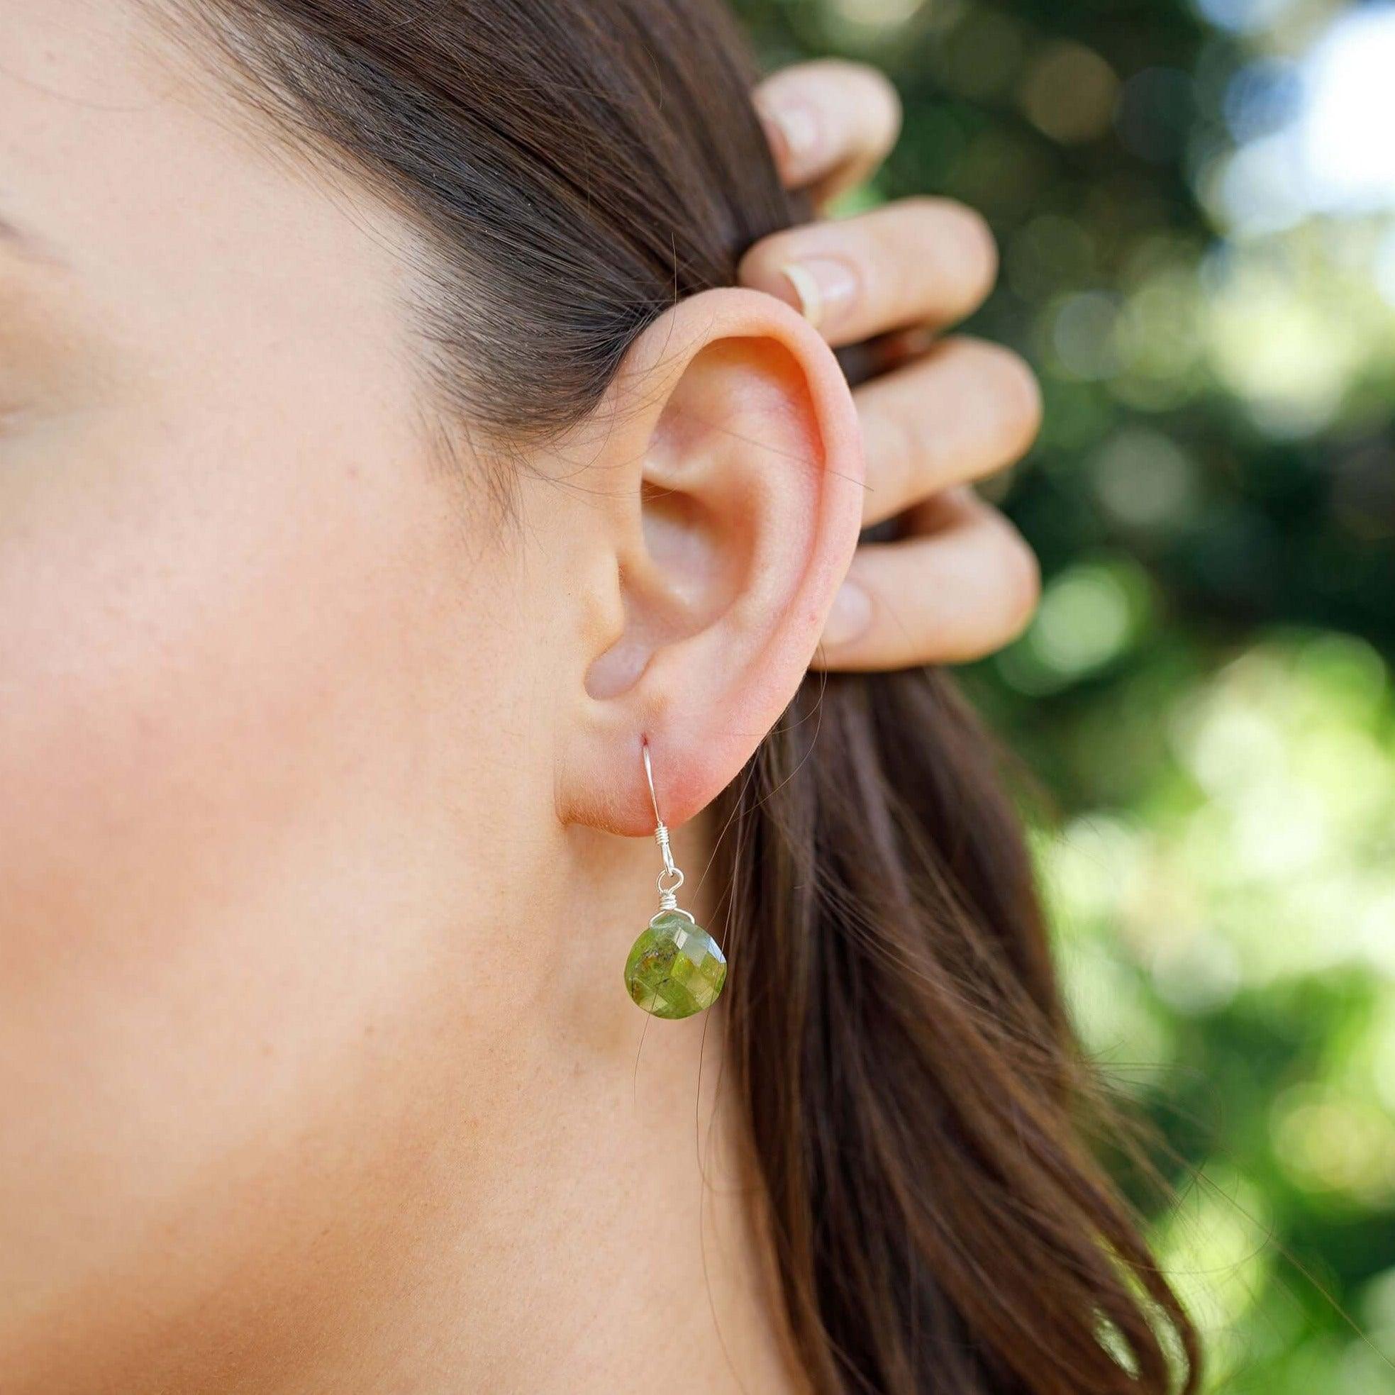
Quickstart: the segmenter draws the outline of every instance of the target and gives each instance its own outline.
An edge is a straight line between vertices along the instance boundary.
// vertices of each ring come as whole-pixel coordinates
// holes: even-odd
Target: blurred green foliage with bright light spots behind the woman
[[[999,237],[972,329],[1043,382],[1002,502],[1046,586],[967,677],[1059,806],[1081,1030],[1180,1159],[1209,1388],[1395,1391],[1395,20],[1318,91],[1335,0],[737,8],[771,66],[893,77],[869,198]]]

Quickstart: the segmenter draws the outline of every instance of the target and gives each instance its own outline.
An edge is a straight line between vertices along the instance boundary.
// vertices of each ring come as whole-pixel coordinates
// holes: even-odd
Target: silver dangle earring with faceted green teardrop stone
[[[658,813],[647,741],[642,752],[654,806],[654,841],[664,855],[664,869],[658,873],[658,910],[625,961],[625,988],[635,1006],[654,1017],[692,1017],[717,1002],[727,982],[727,960],[717,942],[678,908],[675,893],[684,884],[684,875],[674,866],[668,829]]]

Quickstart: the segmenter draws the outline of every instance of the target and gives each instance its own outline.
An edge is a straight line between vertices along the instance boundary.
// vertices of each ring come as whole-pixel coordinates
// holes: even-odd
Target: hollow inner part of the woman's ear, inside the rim
[[[586,675],[612,698],[664,644],[713,625],[751,585],[771,470],[798,469],[816,437],[804,374],[767,338],[721,339],[688,363],[663,402],[644,449],[640,557],[621,568],[625,628]]]

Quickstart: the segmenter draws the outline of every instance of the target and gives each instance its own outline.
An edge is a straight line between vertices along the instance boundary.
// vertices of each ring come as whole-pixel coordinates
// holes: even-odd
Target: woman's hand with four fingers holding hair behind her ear
[[[767,78],[756,105],[781,177],[817,202],[886,156],[900,102],[877,71],[819,61]],[[960,204],[907,198],[762,239],[741,280],[799,308],[834,347],[887,331],[943,329],[992,289],[997,252]],[[917,349],[854,392],[866,456],[864,526],[903,515],[897,541],[864,543],[829,615],[816,668],[961,663],[1031,618],[1036,558],[971,481],[1024,455],[1041,424],[1036,379],[1017,354],[967,336]]]

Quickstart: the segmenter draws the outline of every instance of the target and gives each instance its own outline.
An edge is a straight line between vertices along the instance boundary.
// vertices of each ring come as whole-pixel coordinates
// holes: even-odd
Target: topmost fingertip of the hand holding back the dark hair
[[[798,63],[755,92],[787,188],[831,198],[859,184],[901,130],[901,99],[876,68],[838,59]]]

